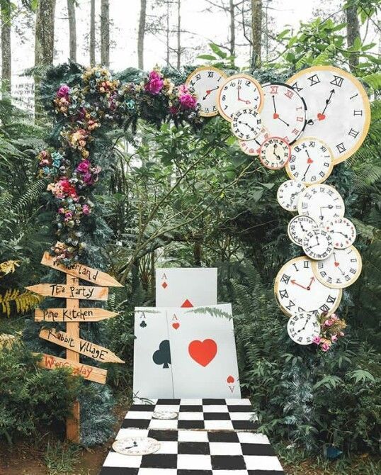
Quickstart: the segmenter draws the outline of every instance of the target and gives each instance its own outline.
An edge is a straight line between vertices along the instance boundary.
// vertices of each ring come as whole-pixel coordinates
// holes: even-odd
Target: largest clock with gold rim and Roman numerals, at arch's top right
[[[351,157],[370,124],[368,96],[358,80],[333,66],[303,69],[288,84],[307,104],[303,136],[319,137],[334,155],[334,164]]]

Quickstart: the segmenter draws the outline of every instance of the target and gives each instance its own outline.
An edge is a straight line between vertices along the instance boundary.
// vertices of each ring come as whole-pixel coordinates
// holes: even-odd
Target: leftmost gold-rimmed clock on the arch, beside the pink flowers
[[[198,67],[186,79],[186,85],[192,87],[200,104],[200,116],[217,116],[217,91],[227,75],[217,67]]]

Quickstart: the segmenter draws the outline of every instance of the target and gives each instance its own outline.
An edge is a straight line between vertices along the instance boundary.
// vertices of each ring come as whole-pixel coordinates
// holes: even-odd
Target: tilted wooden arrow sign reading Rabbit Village
[[[40,331],[40,338],[48,342],[55,343],[62,347],[68,348],[77,353],[84,354],[87,357],[96,359],[103,363],[124,363],[122,359],[116,356],[107,348],[96,345],[95,343],[82,340],[68,335],[64,332],[56,332],[52,328]]]

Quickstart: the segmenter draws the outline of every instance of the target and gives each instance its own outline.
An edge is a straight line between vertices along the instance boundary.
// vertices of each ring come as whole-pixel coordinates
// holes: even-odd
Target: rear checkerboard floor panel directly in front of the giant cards
[[[150,402],[135,400],[122,428],[245,431],[258,427],[249,399],[154,399]],[[175,412],[178,418],[154,419],[154,411]]]

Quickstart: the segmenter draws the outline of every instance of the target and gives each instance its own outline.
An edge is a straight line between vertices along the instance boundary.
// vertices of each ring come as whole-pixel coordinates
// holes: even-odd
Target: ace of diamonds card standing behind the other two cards
[[[217,303],[217,268],[156,269],[156,306],[212,306]]]

